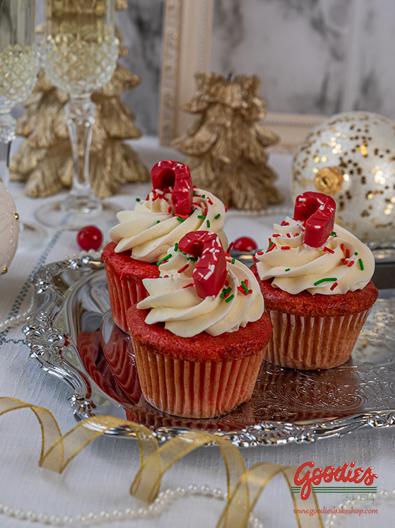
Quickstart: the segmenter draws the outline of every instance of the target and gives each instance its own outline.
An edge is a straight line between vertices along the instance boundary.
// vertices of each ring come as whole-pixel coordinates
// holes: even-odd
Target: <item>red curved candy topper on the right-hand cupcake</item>
[[[295,200],[295,220],[305,220],[305,244],[321,247],[334,230],[336,202],[321,192],[304,192]]]

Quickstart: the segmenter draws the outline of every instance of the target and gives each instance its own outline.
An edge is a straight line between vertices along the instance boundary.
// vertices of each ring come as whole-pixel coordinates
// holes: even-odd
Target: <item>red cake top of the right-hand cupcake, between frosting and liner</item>
[[[257,272],[257,266],[252,267],[257,277],[261,292],[264,296],[266,310],[280,310],[292,315],[308,315],[310,317],[323,317],[325,315],[343,315],[358,313],[370,308],[379,292],[370,281],[362,290],[348,291],[344,294],[312,295],[308,291],[302,291],[293,295],[280,288],[273,288],[273,279],[261,281]]]

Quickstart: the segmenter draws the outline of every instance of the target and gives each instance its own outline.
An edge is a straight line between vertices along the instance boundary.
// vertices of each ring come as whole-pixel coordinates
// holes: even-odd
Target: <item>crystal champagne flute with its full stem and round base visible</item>
[[[74,173],[66,199],[35,212],[37,220],[45,225],[78,230],[88,223],[115,221],[117,209],[102,204],[89,183],[89,150],[96,111],[90,95],[110,81],[117,65],[114,1],[45,3],[45,71],[55,86],[70,93],[65,110]]]

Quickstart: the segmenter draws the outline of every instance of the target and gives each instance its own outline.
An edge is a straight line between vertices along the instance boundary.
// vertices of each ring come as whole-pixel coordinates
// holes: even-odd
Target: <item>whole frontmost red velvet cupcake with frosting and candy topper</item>
[[[271,334],[257,279],[206,231],[182,237],[159,270],[127,313],[143,395],[175,416],[229,413],[251,398]]]

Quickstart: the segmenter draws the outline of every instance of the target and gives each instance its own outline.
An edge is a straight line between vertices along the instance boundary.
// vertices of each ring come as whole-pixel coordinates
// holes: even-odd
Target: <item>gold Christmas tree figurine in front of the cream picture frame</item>
[[[265,148],[278,141],[266,129],[265,101],[257,76],[225,79],[198,72],[197,93],[182,110],[200,114],[172,146],[189,156],[194,184],[208,189],[228,207],[259,210],[283,199],[273,187],[276,174],[266,165]]]

